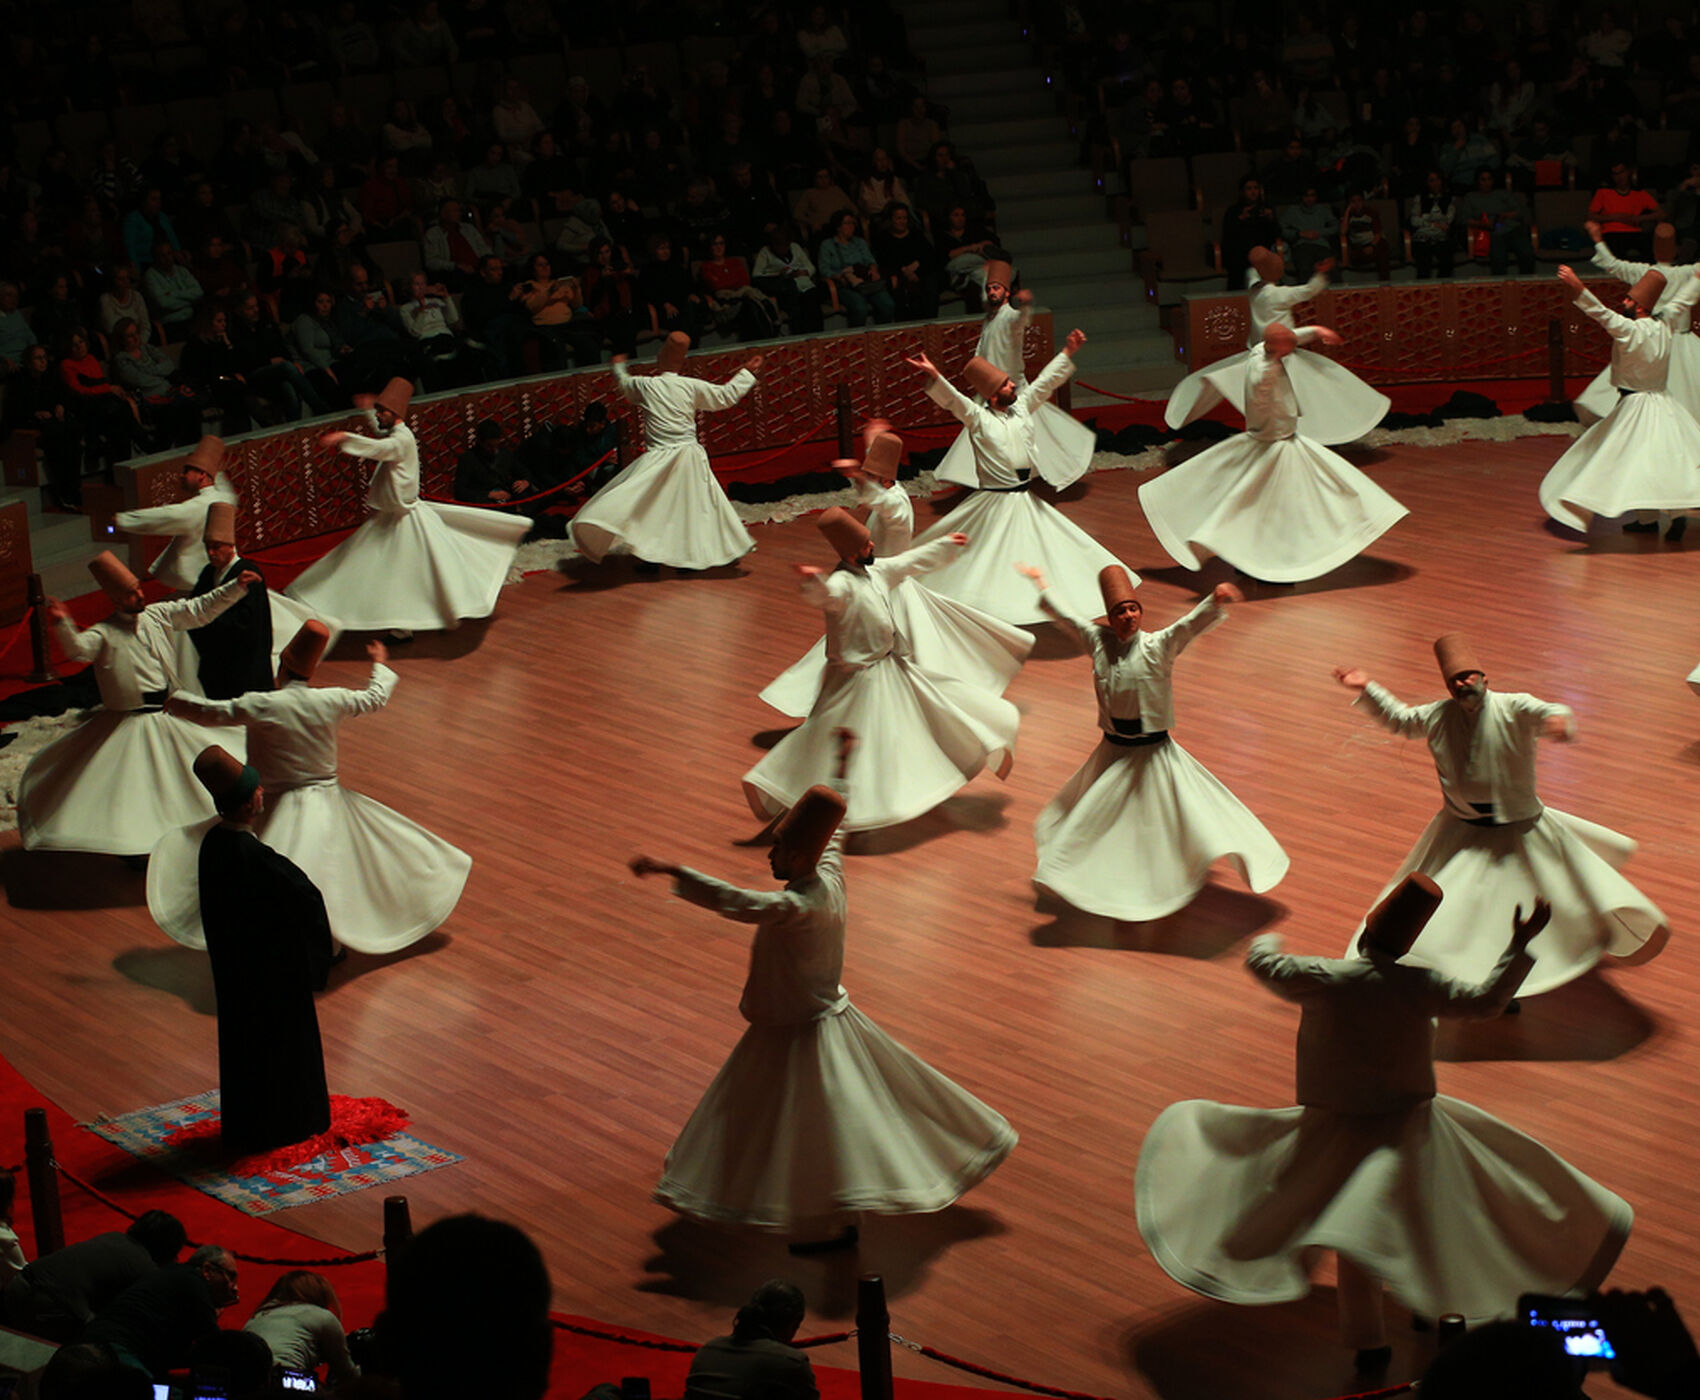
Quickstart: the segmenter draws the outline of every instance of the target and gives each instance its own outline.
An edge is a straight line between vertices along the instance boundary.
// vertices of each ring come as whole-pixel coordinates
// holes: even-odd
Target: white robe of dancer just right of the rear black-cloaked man
[[[490,617],[530,522],[422,501],[420,450],[406,423],[384,437],[348,433],[342,450],[377,462],[366,491],[372,513],[284,591],[314,617],[335,617],[360,632],[428,632]]]

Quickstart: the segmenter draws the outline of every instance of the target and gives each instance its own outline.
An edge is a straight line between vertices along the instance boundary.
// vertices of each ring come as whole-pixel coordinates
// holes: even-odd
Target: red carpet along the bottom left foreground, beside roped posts
[[[141,1213],[155,1208],[172,1211],[172,1215],[184,1222],[190,1240],[221,1244],[238,1256],[246,1256],[240,1264],[241,1301],[224,1313],[223,1322],[226,1327],[240,1327],[246,1322],[274,1279],[292,1267],[316,1267],[332,1281],[342,1300],[343,1324],[350,1330],[369,1325],[382,1307],[382,1262],[340,1262],[354,1256],[306,1235],[298,1235],[282,1225],[246,1217],[241,1211],[219,1205],[201,1191],[194,1191],[155,1172],[121,1149],[102,1142],[94,1133],[82,1132],[70,1115],[60,1111],[37,1094],[3,1057],[0,1057],[0,1166],[15,1167],[24,1160],[26,1108],[48,1109],[54,1155],[66,1171],[99,1188],[129,1211]],[[83,1191],[78,1191],[68,1181],[61,1184],[60,1198],[65,1211],[65,1237],[68,1240],[87,1239],[104,1230],[122,1230],[126,1227],[126,1220],[121,1215]],[[415,1227],[430,1222],[416,1220]],[[22,1171],[17,1177],[17,1233],[24,1242],[24,1254],[34,1257],[36,1242],[31,1225],[29,1184]],[[374,1198],[374,1249],[381,1235],[382,1205]],[[253,1259],[265,1259],[269,1262],[257,1264],[252,1262]],[[653,1332],[634,1332],[627,1327],[597,1322],[588,1317],[556,1313],[556,1320],[573,1327],[631,1337],[636,1342],[677,1346],[677,1342],[658,1337]],[[731,1310],[728,1310],[726,1325],[731,1325]],[[816,1329],[813,1324],[804,1324],[804,1330],[826,1332],[828,1329]],[[842,1369],[840,1366],[821,1364],[828,1359],[853,1363],[855,1344],[836,1342],[823,1347],[819,1358],[814,1364],[814,1376],[823,1400],[857,1400],[860,1395],[857,1373],[853,1369]],[[580,1400],[593,1385],[602,1381],[614,1381],[617,1385],[622,1376],[648,1376],[651,1393],[656,1397],[682,1395],[688,1369],[688,1352],[622,1346],[612,1341],[580,1337],[568,1330],[558,1330],[549,1395],[558,1400]],[[976,1400],[976,1397],[978,1400],[984,1400],[986,1393],[986,1390],[978,1386],[898,1381],[898,1395],[903,1400]]]

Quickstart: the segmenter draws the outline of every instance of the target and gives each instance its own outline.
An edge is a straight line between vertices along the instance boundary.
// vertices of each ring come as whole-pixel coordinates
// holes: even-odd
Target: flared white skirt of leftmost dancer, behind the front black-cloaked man
[[[92,710],[19,780],[24,850],[148,855],[165,833],[212,816],[194,775],[207,744],[236,758],[248,751],[240,729],[204,729],[158,710]]]

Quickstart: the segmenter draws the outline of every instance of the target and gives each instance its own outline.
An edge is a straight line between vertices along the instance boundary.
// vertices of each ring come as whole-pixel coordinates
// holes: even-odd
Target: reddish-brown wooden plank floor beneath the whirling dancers
[[[1054,635],[1010,697],[1006,783],[865,839],[848,863],[845,982],[857,1004],[1018,1128],[1013,1157],[959,1206],[874,1220],[855,1259],[680,1222],[648,1201],[673,1133],[736,1042],[746,934],[638,882],[646,851],[765,882],[738,778],[779,717],[756,692],[819,632],[789,564],[824,562],[809,522],[756,530],[741,569],[537,576],[498,617],[398,652],[388,712],[348,724],[348,787],[474,858],[447,928],[389,962],[355,958],[320,1004],[332,1086],[410,1108],[464,1166],[406,1183],[415,1218],[520,1220],[556,1305],[682,1337],[722,1329],[756,1281],[797,1279],[811,1327],[842,1322],[858,1269],[886,1276],[894,1329],[944,1351],[1114,1397],[1319,1397],[1352,1390],[1333,1295],[1241,1310],[1171,1283],[1134,1225],[1132,1172],[1183,1098],[1292,1101],[1292,1008],[1239,967],[1248,938],[1341,951],[1436,807],[1421,744],[1370,729],[1331,680],[1365,666],[1408,700],[1440,683],[1435,635],[1467,630],[1493,683],[1576,708],[1542,795],[1640,841],[1629,875],[1674,936],[1647,967],[1591,975],[1518,1019],[1445,1036],[1445,1092],[1537,1135],[1624,1194],[1637,1223],[1620,1286],[1666,1286],[1700,1318],[1693,1008],[1700,1004],[1700,658],[1692,552],[1544,525],[1535,486],[1562,438],[1358,457],[1411,515],[1312,584],[1265,588],[1178,668],[1176,732],[1292,855],[1272,897],[1222,875],[1161,924],[1040,912],[1032,821],[1095,741],[1090,676]],[[1163,625],[1202,576],[1168,564],[1139,477],[1090,479],[1064,508],[1115,547]],[[925,525],[932,511],[920,511]],[[1697,542],[1700,544],[1700,542]],[[355,651],[325,680],[359,683]],[[204,960],[158,934],[141,877],[107,858],[0,844],[12,912],[0,1048],[75,1115],[214,1082]],[[372,1193],[291,1211],[367,1247]],[[1421,1366],[1397,1332],[1396,1378]],[[823,1361],[853,1364],[847,1347]],[[634,1363],[636,1364],[636,1363]],[[899,1352],[903,1375],[954,1373]],[[1598,1393],[1612,1393],[1596,1383]]]

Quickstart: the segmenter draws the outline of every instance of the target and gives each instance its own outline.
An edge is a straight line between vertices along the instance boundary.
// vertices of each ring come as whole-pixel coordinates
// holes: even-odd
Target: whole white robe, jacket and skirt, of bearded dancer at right
[[[1535,744],[1545,722],[1571,724],[1564,705],[1489,690],[1481,714],[1457,700],[1402,705],[1374,681],[1355,702],[1386,729],[1428,741],[1445,805],[1375,897],[1413,870],[1445,890],[1411,957],[1448,977],[1476,980],[1522,906],[1552,904],[1552,921],[1528,951],[1535,996],[1581,977],[1603,955],[1646,962],[1664,946],[1664,914],[1618,873],[1635,843],[1595,822],[1544,807],[1535,793]],[[1491,812],[1481,810],[1482,807]],[[1496,824],[1474,822],[1493,816]],[[1362,924],[1358,931],[1362,933]],[[1346,957],[1357,957],[1357,934]]]

